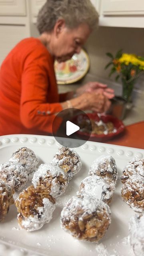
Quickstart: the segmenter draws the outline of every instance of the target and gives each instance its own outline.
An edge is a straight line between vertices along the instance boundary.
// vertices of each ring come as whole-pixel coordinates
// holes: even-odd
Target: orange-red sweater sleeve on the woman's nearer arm
[[[22,89],[20,102],[20,119],[28,128],[52,133],[52,122],[58,112],[62,110],[59,102],[48,103],[50,90],[48,72],[37,61],[31,62],[24,68],[22,74]],[[62,120],[57,120],[55,131]]]

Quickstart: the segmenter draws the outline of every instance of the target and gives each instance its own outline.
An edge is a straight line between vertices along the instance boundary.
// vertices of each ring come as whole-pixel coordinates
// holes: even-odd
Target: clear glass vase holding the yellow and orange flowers
[[[126,102],[130,103],[132,101],[132,91],[134,88],[134,80],[128,82],[126,79],[122,78],[122,97]]]

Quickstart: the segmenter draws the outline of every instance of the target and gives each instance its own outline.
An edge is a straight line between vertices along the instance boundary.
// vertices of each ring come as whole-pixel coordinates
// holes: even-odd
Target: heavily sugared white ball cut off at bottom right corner
[[[136,214],[130,218],[129,236],[134,255],[144,255],[144,214]]]

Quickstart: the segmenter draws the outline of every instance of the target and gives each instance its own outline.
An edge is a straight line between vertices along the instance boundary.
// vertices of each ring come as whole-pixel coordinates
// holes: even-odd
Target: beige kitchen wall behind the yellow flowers
[[[104,70],[110,60],[106,56],[106,52],[115,55],[122,48],[124,52],[144,57],[144,28],[99,27],[97,32],[90,36],[84,48],[90,56],[90,70],[83,82],[97,78],[101,82],[106,81],[112,87],[116,86],[116,91],[120,94],[122,89],[120,80],[117,83],[115,82],[115,74],[110,78],[108,77],[110,68]],[[143,105],[144,76],[138,78],[133,98],[136,104]]]

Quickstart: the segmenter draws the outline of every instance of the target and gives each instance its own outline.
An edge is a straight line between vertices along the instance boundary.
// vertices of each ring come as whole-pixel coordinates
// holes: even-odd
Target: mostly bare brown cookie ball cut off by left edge
[[[6,217],[10,205],[14,204],[12,188],[4,181],[0,181],[0,221]]]

